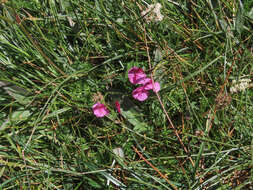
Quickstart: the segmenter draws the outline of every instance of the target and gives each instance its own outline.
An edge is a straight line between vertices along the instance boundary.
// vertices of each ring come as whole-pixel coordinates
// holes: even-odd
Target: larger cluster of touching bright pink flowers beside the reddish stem
[[[132,84],[142,85],[132,92],[132,96],[136,100],[146,100],[149,95],[148,90],[153,90],[154,92],[158,92],[160,90],[160,84],[158,82],[153,83],[152,79],[147,78],[146,74],[141,68],[132,67],[128,71],[128,78]]]

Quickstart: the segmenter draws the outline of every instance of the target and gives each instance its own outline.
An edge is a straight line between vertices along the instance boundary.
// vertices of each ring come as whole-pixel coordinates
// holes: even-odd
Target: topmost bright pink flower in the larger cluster
[[[143,80],[146,79],[146,74],[141,68],[132,67],[128,71],[128,78],[132,84],[143,84]]]

